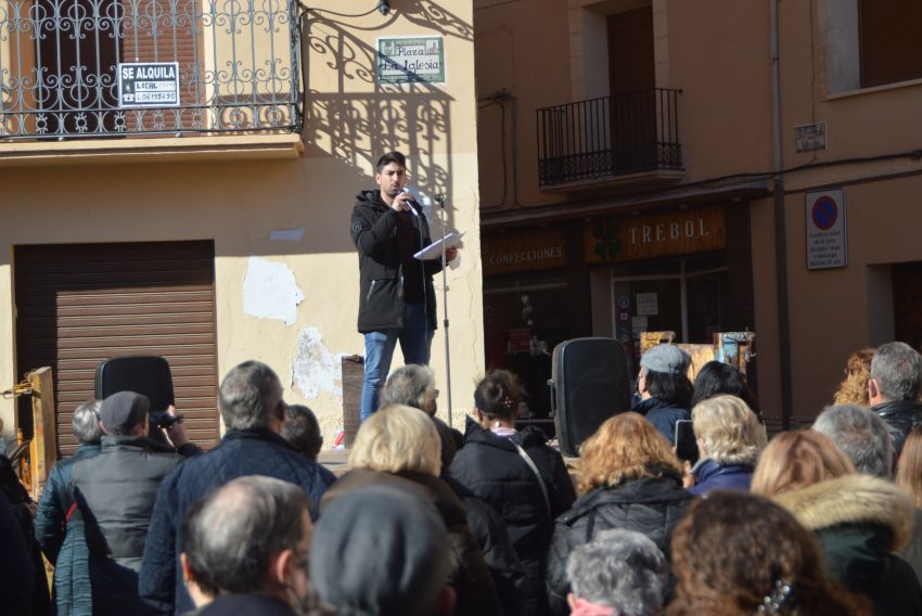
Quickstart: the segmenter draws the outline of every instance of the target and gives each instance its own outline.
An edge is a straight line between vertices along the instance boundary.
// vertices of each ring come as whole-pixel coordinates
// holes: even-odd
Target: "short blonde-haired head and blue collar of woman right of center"
[[[715,396],[692,409],[701,459],[692,467],[693,495],[717,489],[750,489],[756,460],[765,447],[765,426],[737,396]]]

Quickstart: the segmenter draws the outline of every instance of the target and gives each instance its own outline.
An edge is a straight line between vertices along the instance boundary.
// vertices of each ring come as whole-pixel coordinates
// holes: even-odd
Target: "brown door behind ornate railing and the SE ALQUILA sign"
[[[203,123],[188,108],[117,114],[119,62],[178,62],[182,106],[202,102],[197,0],[37,1],[39,133],[171,132]]]

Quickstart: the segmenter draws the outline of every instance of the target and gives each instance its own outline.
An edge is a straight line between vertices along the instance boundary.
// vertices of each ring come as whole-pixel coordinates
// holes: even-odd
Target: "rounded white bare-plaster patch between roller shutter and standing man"
[[[279,319],[291,325],[302,300],[304,293],[289,266],[249,257],[243,278],[244,312],[262,319]]]

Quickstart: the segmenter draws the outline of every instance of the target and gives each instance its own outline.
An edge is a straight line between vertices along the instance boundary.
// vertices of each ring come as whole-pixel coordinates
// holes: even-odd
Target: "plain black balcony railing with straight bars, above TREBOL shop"
[[[656,88],[538,110],[538,181],[682,169],[678,97]]]

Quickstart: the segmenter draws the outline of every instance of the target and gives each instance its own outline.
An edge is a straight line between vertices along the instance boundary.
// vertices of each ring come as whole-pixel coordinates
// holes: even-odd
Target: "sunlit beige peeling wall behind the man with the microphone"
[[[269,363],[282,378],[286,400],[310,406],[332,442],[342,423],[340,358],[363,354],[362,337],[356,332],[358,259],[349,240],[349,214],[356,193],[374,187],[377,156],[399,149],[408,155],[410,183],[426,194],[446,193],[448,227],[466,232],[461,267],[448,273],[448,309],[453,401],[459,410],[469,405],[484,363],[470,2],[445,0],[408,7],[406,13],[396,5],[388,16],[374,12],[363,17],[320,12],[343,13],[343,3],[335,0],[312,2],[311,8],[318,11],[310,14],[306,35],[303,157],[215,161],[214,154],[187,153],[191,159],[181,163],[152,157],[126,163],[126,156],[116,152],[106,163],[0,167],[3,388],[18,377],[11,278],[14,245],[212,239],[219,374],[246,359]],[[418,35],[445,38],[447,82],[375,84],[375,38]],[[214,138],[214,143],[219,140]],[[0,143],[0,155],[4,147],[11,146]],[[270,239],[273,230],[300,228],[300,241]],[[304,296],[293,323],[244,310],[244,278],[254,258],[290,268]],[[440,315],[440,277],[436,292]],[[446,406],[444,358],[439,331],[432,364]],[[394,365],[401,363],[398,351]],[[293,374],[298,365],[303,369]],[[13,409],[12,402],[0,401],[7,433]]]

